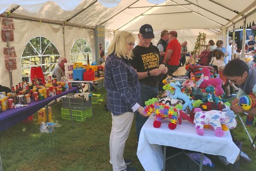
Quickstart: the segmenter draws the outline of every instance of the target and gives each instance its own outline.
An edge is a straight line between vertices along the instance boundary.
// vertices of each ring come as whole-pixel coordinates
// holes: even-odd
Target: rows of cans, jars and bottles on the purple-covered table
[[[61,77],[61,81],[57,81],[57,77],[52,75],[51,80],[47,78],[45,85],[41,78],[32,79],[31,83],[26,82],[27,80],[24,79],[15,86],[12,85],[10,93],[0,93],[0,112],[22,107],[31,103],[32,100],[38,101],[53,97],[71,88],[71,83],[66,77]]]

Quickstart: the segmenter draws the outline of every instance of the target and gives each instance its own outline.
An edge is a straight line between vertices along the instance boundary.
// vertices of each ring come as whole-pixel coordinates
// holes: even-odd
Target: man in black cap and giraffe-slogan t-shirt
[[[133,59],[129,60],[131,66],[137,70],[140,89],[141,101],[145,106],[145,101],[158,95],[158,82],[160,81],[160,74],[167,73],[167,67],[160,69],[162,63],[159,50],[156,46],[151,45],[151,40],[154,38],[153,28],[149,24],[140,27],[138,34],[139,44],[133,49]],[[136,112],[136,131],[139,140],[140,130],[148,117],[143,117]]]

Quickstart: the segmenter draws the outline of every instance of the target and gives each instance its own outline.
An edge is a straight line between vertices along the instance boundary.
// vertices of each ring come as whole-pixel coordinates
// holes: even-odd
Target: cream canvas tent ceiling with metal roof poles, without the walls
[[[96,25],[104,25],[109,31],[138,31],[142,24],[148,23],[155,31],[160,31],[219,29],[229,26],[230,21],[241,19],[241,15],[234,10],[246,15],[255,11],[256,7],[255,0],[166,0],[160,4],[148,3],[147,0],[120,0],[113,8],[103,6],[101,1],[103,0],[5,0],[0,12],[6,13],[18,4],[20,7],[12,16],[60,24],[72,18],[67,23],[73,26],[94,28]]]

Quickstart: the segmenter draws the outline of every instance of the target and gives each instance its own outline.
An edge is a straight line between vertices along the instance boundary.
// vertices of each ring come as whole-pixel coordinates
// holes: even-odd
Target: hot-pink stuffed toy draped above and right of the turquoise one
[[[204,70],[208,70],[208,68],[204,68]],[[208,76],[207,76],[208,77]],[[217,76],[217,78],[212,78],[212,79],[207,79],[207,78],[201,78],[196,82],[196,87],[197,88],[206,88],[208,85],[212,85],[215,87],[215,95],[216,96],[221,96],[224,91],[221,88],[222,86],[222,80]]]

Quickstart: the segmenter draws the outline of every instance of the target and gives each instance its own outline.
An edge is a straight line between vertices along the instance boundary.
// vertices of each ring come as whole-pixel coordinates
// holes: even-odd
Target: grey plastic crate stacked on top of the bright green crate
[[[63,108],[68,109],[68,103],[67,103],[67,98],[63,97]],[[70,98],[70,106],[71,109],[73,110],[85,110],[86,108],[91,106],[91,98],[89,98],[88,101],[85,101],[84,99],[79,99],[79,98]]]

